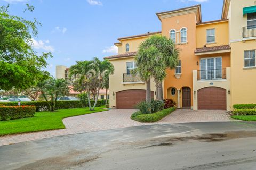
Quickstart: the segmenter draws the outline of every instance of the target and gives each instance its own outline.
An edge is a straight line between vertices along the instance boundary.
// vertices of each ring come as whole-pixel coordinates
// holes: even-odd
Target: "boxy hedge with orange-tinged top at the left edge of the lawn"
[[[2,106],[0,107],[0,121],[33,117],[35,113],[35,106]]]

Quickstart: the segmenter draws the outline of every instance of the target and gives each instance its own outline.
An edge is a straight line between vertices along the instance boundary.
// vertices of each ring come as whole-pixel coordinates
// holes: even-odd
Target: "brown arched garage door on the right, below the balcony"
[[[226,110],[226,89],[219,87],[206,87],[198,90],[198,109]]]

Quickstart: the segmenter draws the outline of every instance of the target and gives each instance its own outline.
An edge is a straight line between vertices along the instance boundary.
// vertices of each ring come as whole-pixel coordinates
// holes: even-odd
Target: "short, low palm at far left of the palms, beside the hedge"
[[[51,111],[55,110],[56,101],[59,96],[69,93],[68,82],[65,79],[55,79],[53,77],[38,83],[38,88]],[[50,98],[50,102],[49,99]]]

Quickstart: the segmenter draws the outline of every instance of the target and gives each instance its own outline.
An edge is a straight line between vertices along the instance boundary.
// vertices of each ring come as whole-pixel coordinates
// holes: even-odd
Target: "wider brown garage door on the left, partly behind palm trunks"
[[[154,97],[154,92],[151,91],[151,98]],[[124,90],[116,93],[116,108],[117,109],[132,109],[140,101],[146,100],[146,90]]]

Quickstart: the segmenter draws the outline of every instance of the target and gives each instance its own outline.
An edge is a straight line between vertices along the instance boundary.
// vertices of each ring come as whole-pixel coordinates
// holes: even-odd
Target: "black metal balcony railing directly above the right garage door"
[[[226,69],[197,70],[197,80],[227,79]]]

